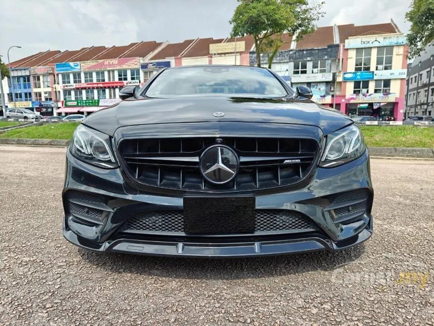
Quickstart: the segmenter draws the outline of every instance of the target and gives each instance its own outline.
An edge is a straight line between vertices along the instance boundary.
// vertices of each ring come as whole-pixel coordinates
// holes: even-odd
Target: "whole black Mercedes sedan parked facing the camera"
[[[97,252],[247,257],[339,250],[372,234],[353,121],[264,68],[158,71],[83,120],[63,234]]]

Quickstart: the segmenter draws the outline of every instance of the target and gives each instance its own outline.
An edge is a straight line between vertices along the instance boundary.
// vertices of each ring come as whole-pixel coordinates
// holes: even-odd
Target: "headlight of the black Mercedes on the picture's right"
[[[352,124],[327,136],[319,166],[333,167],[350,162],[366,150],[359,127]]]

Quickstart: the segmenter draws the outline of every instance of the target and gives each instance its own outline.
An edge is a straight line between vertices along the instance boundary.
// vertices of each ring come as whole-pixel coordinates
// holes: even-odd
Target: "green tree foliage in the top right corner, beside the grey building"
[[[405,19],[411,23],[407,34],[408,58],[414,58],[434,44],[434,0],[413,0]]]

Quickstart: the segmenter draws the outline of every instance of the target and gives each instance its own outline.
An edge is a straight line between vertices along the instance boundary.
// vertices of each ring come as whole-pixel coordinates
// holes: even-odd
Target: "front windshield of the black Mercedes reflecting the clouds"
[[[232,95],[284,97],[288,92],[268,70],[255,67],[183,67],[167,69],[150,84],[147,97]]]

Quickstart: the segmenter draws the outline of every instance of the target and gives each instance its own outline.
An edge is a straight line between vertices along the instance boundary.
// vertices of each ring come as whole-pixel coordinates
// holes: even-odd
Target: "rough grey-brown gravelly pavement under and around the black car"
[[[434,323],[434,161],[371,160],[374,235],[355,248],[193,260],[69,244],[64,157],[0,146],[0,325]]]

